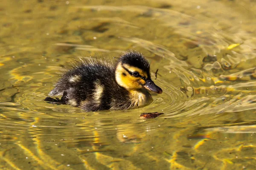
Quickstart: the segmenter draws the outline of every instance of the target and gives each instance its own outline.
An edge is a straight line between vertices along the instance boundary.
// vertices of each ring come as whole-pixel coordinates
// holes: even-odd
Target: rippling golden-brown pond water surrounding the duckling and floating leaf
[[[0,169],[256,169],[255,11],[255,0],[3,0]],[[153,79],[159,69],[151,105],[43,101],[72,59],[128,50]]]

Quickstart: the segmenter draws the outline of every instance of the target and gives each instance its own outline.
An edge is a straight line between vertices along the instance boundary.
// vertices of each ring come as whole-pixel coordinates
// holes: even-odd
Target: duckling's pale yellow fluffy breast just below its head
[[[144,88],[132,89],[129,90],[129,93],[132,108],[143,107],[145,105],[149,105],[153,101],[149,92]]]

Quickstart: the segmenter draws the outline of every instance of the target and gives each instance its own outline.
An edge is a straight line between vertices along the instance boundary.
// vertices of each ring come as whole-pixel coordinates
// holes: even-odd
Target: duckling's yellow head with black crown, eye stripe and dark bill
[[[145,88],[158,94],[163,92],[151,80],[148,60],[138,52],[123,54],[117,62],[115,75],[118,85],[128,91]]]

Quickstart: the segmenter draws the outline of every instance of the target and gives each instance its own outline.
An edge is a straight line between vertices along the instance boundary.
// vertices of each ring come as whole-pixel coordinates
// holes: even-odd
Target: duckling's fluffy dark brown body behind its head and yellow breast
[[[67,71],[49,96],[67,92],[67,103],[86,111],[127,109],[129,92],[116,83],[113,63],[88,59]]]

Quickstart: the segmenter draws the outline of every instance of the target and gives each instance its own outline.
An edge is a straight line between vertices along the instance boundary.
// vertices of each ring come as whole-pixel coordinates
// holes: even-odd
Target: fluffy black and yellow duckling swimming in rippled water
[[[85,111],[139,108],[152,102],[153,91],[162,94],[150,76],[150,64],[139,52],[129,51],[113,62],[82,60],[63,74],[47,102],[70,104]]]

